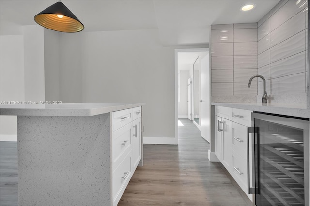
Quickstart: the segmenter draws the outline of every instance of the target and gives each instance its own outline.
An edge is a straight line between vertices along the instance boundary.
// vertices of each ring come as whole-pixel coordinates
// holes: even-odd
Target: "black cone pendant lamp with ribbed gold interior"
[[[72,33],[84,29],[84,25],[60,1],[35,15],[34,21],[42,27],[61,32]]]

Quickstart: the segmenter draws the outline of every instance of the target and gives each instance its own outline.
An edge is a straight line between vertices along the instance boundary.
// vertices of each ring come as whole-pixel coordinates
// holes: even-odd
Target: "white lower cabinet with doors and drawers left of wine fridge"
[[[248,194],[248,127],[251,112],[248,110],[216,106],[215,109],[215,154],[227,171]],[[218,112],[217,112],[218,111]]]

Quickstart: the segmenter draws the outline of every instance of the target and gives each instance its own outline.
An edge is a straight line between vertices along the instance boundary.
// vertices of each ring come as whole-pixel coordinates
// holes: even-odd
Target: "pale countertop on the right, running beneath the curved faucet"
[[[310,117],[310,111],[307,109],[307,105],[298,103],[211,103],[211,105],[301,118]]]

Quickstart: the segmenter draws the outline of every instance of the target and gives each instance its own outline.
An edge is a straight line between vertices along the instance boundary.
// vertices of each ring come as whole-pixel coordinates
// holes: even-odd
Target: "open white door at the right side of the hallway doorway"
[[[201,129],[202,137],[210,142],[210,72],[209,53],[201,64]]]

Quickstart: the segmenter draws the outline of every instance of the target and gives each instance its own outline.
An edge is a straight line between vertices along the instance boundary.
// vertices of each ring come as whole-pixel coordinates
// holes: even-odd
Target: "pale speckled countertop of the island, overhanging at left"
[[[1,105],[0,115],[93,116],[143,105],[145,105],[145,103],[63,103],[43,105]]]

